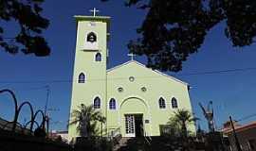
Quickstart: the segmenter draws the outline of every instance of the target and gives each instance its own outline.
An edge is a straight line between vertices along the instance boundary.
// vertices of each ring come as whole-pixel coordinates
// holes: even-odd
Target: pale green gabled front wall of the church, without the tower
[[[131,82],[130,76],[135,80]],[[159,72],[144,67],[137,61],[129,61],[107,73],[107,94],[108,100],[116,98],[119,108],[115,111],[108,110],[108,126],[121,127],[124,136],[124,114],[130,112],[142,112],[144,120],[150,120],[149,124],[144,124],[149,135],[159,135],[159,125],[166,125],[168,119],[174,114],[171,107],[171,99],[175,97],[178,101],[178,109],[192,110],[188,85],[171,76],[165,76]],[[119,92],[119,88],[123,92]],[[146,92],[141,88],[145,87]],[[158,99],[163,97],[166,100],[166,109],[159,109]],[[130,99],[131,98],[131,99]],[[135,101],[135,99],[137,101]],[[125,103],[129,102],[131,103]],[[125,106],[122,107],[122,104]],[[129,108],[126,104],[129,104]],[[192,131],[194,126],[190,126]]]

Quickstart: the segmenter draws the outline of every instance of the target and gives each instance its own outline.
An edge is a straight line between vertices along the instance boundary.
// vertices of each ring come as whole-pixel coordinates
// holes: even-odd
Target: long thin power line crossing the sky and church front
[[[220,70],[220,71],[210,71],[210,72],[198,72],[198,73],[189,73],[189,74],[180,74],[177,76],[203,76],[203,75],[216,75],[216,74],[227,74],[227,73],[235,73],[235,72],[244,72],[244,71],[252,71],[256,70],[256,67],[251,68],[238,68],[238,69],[229,69],[229,70]],[[137,79],[146,79],[146,78],[161,78],[162,76],[137,76]],[[127,79],[127,77],[116,77],[116,78],[108,78],[108,80],[122,80]],[[103,81],[105,78],[95,78],[95,79],[87,79],[87,82],[91,81]],[[77,82],[77,80],[34,80],[34,81],[0,81],[0,83],[15,83],[15,84],[23,84],[23,83],[73,83]]]

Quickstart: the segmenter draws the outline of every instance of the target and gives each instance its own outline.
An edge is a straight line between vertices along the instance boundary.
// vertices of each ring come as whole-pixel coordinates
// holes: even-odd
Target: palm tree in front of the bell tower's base
[[[72,111],[71,117],[72,120],[69,125],[78,125],[77,131],[80,136],[88,138],[98,135],[98,122],[101,122],[102,126],[106,121],[106,118],[101,115],[100,111],[94,109],[93,106],[86,107],[83,104],[78,109]]]

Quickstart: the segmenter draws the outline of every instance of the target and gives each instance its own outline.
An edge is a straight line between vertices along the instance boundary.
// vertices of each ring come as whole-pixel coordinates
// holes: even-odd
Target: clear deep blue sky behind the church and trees
[[[111,41],[109,43],[109,67],[129,60],[126,44],[137,38],[136,29],[145,18],[145,12],[136,8],[125,8],[124,1],[101,3],[100,0],[46,1],[43,5],[44,16],[50,20],[49,28],[44,32],[52,52],[49,57],[36,58],[33,55],[9,55],[0,51],[0,89],[9,88],[16,92],[19,101],[30,101],[35,109],[44,109],[46,103],[46,85],[50,87],[49,108],[51,129],[65,129],[68,120],[71,94],[71,78],[76,42],[76,23],[74,15],[89,15],[89,9],[98,8],[101,15],[111,16]],[[200,117],[201,126],[207,127],[202,111],[198,107],[213,101],[215,122],[219,127],[229,120],[241,119],[256,113],[255,85],[256,70],[214,75],[188,76],[201,73],[237,68],[256,67],[256,44],[243,48],[232,47],[224,36],[225,23],[210,30],[199,52],[184,62],[183,71],[168,73],[191,84],[191,100],[194,113]],[[7,26],[11,36],[16,30],[15,24]],[[143,57],[137,57],[142,63]],[[187,76],[186,76],[187,75]],[[61,80],[61,81],[56,81]],[[20,122],[28,119],[28,110],[22,110]],[[9,95],[0,95],[0,116],[11,120],[13,105]],[[249,119],[255,120],[255,118]],[[247,123],[248,121],[242,121]]]

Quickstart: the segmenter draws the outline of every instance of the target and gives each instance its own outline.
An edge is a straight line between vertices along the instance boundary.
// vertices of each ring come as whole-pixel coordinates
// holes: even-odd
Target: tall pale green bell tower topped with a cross
[[[77,40],[73,68],[73,82],[71,94],[71,112],[81,104],[94,105],[103,116],[106,114],[106,68],[109,40],[110,17],[75,16],[77,23]],[[79,136],[76,126],[69,126],[69,138]]]

